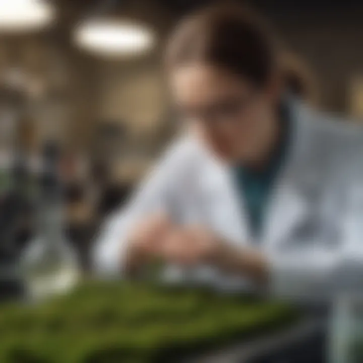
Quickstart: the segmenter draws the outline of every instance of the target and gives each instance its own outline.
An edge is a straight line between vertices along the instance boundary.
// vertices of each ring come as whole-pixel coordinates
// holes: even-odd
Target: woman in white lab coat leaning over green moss
[[[162,258],[169,278],[222,287],[308,298],[361,287],[360,130],[285,97],[268,34],[239,7],[177,27],[166,68],[188,132],[106,226],[98,271]]]

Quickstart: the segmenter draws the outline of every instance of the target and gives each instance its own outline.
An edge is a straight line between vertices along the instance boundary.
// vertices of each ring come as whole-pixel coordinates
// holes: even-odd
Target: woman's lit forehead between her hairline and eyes
[[[170,73],[171,91],[177,102],[208,103],[229,96],[248,93],[247,80],[218,67],[190,64]]]

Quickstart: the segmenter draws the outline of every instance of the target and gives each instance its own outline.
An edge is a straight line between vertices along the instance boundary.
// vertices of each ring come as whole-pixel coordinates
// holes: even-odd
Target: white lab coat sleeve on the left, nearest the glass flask
[[[122,274],[130,228],[147,215],[167,212],[171,194],[175,194],[173,200],[177,198],[176,185],[182,154],[180,145],[171,147],[127,207],[107,218],[92,253],[93,268],[97,274],[108,277]]]

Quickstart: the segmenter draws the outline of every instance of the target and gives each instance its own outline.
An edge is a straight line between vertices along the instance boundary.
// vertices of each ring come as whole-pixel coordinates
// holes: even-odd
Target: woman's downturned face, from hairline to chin
[[[218,157],[255,161],[273,132],[276,92],[223,69],[186,65],[170,75],[171,92],[188,127]],[[269,89],[270,88],[270,89]]]

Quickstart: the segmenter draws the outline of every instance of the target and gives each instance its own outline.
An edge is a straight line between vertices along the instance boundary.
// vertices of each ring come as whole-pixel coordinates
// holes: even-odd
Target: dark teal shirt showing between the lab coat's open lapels
[[[233,167],[232,172],[237,190],[244,200],[250,228],[254,237],[258,237],[264,224],[264,214],[274,181],[285,159],[291,129],[287,105],[281,106],[281,132],[279,142],[270,159],[262,169],[243,166]]]

